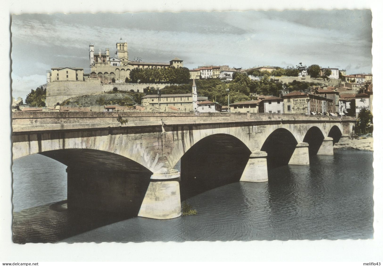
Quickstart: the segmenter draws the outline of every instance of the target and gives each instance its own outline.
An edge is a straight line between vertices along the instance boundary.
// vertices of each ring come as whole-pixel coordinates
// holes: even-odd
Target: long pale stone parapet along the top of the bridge
[[[121,123],[118,118],[128,120]],[[15,112],[13,132],[243,123],[355,123],[356,117],[268,113]]]

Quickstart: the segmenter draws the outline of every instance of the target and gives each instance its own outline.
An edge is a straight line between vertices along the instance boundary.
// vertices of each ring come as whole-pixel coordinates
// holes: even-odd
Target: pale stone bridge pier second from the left
[[[267,180],[267,153],[260,150],[253,151],[239,181],[265,182]]]

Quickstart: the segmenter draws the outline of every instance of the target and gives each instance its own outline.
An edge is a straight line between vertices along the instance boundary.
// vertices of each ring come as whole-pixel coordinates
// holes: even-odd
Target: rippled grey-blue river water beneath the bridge
[[[192,196],[187,202],[198,215],[154,220],[97,214],[91,219],[99,223],[87,226],[66,208],[66,166],[30,155],[13,164],[13,241],[373,238],[372,162],[372,152],[334,150],[334,156],[311,157],[307,166],[270,168],[268,182],[235,182]]]

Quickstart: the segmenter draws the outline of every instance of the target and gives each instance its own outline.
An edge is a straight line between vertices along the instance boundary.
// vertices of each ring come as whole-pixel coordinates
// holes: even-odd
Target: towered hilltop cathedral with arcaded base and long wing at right
[[[98,53],[94,51],[94,44],[89,44],[90,60],[90,78],[98,78],[103,83],[108,83],[114,78],[116,82],[125,81],[129,73],[134,68],[166,68],[173,66],[175,68],[183,66],[183,60],[175,57],[169,63],[142,62],[141,60],[129,60],[128,43],[123,42],[122,38],[116,42],[116,52],[114,56],[109,54],[109,48],[104,53],[101,50]]]

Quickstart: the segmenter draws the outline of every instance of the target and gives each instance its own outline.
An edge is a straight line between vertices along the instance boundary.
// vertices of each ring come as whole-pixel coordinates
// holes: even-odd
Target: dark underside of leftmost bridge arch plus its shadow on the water
[[[137,216],[152,175],[144,166],[100,150],[64,149],[40,154],[68,166],[67,180],[55,180],[49,165],[38,166],[49,172],[44,182],[57,182],[65,189],[63,182],[67,181],[67,200],[54,201],[50,195],[50,204],[14,213],[15,243],[57,242]]]

